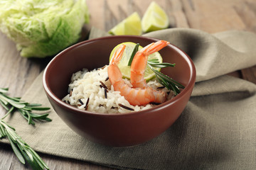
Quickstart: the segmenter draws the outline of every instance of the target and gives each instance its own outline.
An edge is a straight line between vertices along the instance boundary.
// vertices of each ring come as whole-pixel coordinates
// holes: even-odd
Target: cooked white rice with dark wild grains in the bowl
[[[123,108],[122,105],[132,108],[134,111],[142,111],[156,106],[153,104],[147,104],[146,106],[130,105],[124,96],[120,95],[119,91],[114,91],[114,87],[110,84],[110,80],[107,79],[106,81],[107,77],[107,66],[102,69],[94,69],[91,72],[88,72],[87,69],[76,72],[71,77],[71,83],[68,86],[68,95],[63,98],[63,101],[81,110],[87,109],[87,111],[96,113],[132,112],[127,108]],[[107,86],[107,95],[105,94],[105,88],[100,81]],[[129,84],[129,86],[132,86],[129,83],[129,80],[125,79],[124,81]],[[154,89],[162,86],[156,80],[149,81],[148,85]],[[168,92],[166,88],[161,90]],[[174,93],[171,91],[168,99],[172,97],[174,97]],[[88,98],[90,98],[90,101],[86,107]],[[121,106],[119,104],[121,104]]]

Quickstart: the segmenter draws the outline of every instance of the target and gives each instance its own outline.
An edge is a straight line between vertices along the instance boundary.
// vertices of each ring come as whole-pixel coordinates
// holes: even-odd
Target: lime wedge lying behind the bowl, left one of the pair
[[[112,35],[142,35],[142,22],[137,12],[125,18],[109,31]]]

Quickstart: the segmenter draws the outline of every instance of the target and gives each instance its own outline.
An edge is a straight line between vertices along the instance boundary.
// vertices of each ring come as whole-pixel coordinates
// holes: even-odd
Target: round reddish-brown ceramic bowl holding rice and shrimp
[[[127,41],[144,47],[157,40],[120,35],[80,42],[56,55],[43,74],[43,87],[60,118],[78,134],[103,145],[137,145],[160,135],[181,115],[196,80],[196,69],[191,59],[178,47],[168,45],[159,52],[164,62],[176,63],[176,67],[164,68],[161,72],[186,86],[171,100],[145,111],[120,114],[81,111],[61,101],[68,93],[68,84],[73,73],[83,68],[91,70],[108,64],[112,49]]]

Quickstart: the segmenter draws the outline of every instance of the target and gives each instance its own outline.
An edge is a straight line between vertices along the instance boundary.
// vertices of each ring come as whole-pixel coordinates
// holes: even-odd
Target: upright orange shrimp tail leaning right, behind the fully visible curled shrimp
[[[170,42],[165,40],[159,40],[157,42],[152,42],[146,47],[139,50],[132,60],[131,65],[131,84],[133,87],[144,88],[147,86],[146,80],[144,79],[144,72],[146,69],[146,62],[148,60],[148,56],[161,50],[162,48],[169,45]]]

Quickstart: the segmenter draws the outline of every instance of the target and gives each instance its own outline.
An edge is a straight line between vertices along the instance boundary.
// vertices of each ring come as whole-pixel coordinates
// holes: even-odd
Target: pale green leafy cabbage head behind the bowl
[[[80,38],[85,0],[0,0],[0,30],[22,57],[53,56]]]

